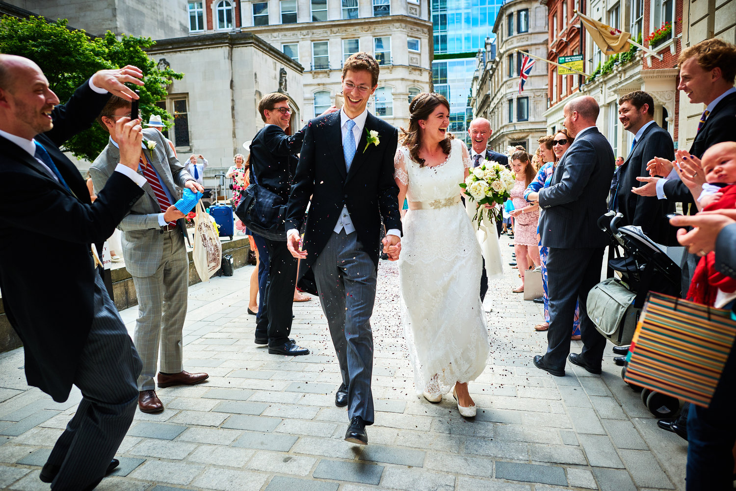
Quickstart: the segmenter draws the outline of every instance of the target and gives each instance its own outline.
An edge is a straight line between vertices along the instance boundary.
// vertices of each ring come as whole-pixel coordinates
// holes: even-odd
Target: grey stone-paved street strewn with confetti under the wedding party
[[[501,240],[510,260],[509,240]],[[531,364],[546,345],[532,328],[541,309],[511,292],[517,270],[506,267],[489,289],[489,364],[470,384],[478,416],[464,420],[451,396],[433,405],[415,395],[397,269],[381,265],[372,319],[377,413],[367,447],[343,441],[347,414],[334,406],[339,373],[316,298],[294,304],[292,331],[312,353],[287,358],[253,344],[252,266],[192,286],[185,370],[210,378],[160,389],[161,414],[136,411],[121,465],[97,489],[684,490],[685,442],[657,429],[609,350],[603,375],[568,364],[558,378]],[[137,314],[121,312],[131,332]],[[48,490],[40,466],[80,396],[75,389],[54,403],[29,389],[23,363],[22,349],[0,355],[0,487]]]

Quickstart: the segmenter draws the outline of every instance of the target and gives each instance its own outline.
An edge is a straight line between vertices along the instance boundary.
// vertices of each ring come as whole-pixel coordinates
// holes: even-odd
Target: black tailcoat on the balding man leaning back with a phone
[[[52,115],[54,129],[35,138],[51,155],[73,194],[28,152],[0,137],[0,289],[10,325],[24,343],[26,378],[56,401],[68,398],[79,353],[92,325],[91,243],[102,244],[143,194],[116,172],[90,202],[79,171],[59,149],[87,129],[109,94],[87,82]],[[43,248],[60,258],[49,272]]]

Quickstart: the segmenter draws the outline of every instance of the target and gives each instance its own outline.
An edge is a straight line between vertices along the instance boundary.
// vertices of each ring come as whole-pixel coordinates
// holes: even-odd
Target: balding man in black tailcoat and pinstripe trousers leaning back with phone
[[[113,456],[135,413],[141,359],[95,268],[91,244],[113,233],[145,183],[135,173],[140,121],[118,121],[125,135],[120,163],[94,203],[59,145],[92,124],[108,91],[135,97],[122,82],[143,85],[142,76],[132,66],[99,71],[58,105],[35,63],[0,54],[2,299],[24,343],[28,384],[57,402],[68,398],[72,384],[83,396],[40,473],[54,491],[96,487],[117,465]],[[62,258],[53,275],[29,244],[53,244]]]

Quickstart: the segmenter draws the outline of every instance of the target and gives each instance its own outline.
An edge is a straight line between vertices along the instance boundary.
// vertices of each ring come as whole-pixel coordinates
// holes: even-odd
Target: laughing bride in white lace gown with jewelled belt
[[[470,156],[447,133],[444,96],[420,93],[409,111],[394,177],[399,205],[408,200],[399,281],[414,386],[431,402],[453,389],[460,414],[472,417],[467,383],[486,367],[489,345],[478,287],[481,247],[460,199]]]

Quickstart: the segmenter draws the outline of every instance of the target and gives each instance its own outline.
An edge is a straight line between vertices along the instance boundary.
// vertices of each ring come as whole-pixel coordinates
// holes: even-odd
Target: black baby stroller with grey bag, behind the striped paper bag
[[[598,226],[612,240],[608,266],[618,278],[598,283],[588,295],[587,312],[598,331],[617,346],[631,344],[642,307],[650,291],[679,297],[684,247],[665,247],[644,235],[641,227],[618,227],[623,215],[609,211],[598,219]],[[623,252],[621,252],[623,250]],[[621,353],[619,348],[617,353]],[[626,365],[621,377],[626,374]],[[657,417],[673,417],[679,400],[640,386],[642,401]]]

